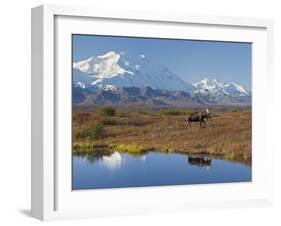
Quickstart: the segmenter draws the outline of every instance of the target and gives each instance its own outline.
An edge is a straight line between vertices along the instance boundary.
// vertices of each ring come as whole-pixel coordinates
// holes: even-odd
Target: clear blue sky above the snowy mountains
[[[108,51],[144,54],[167,66],[183,80],[205,77],[236,82],[251,91],[250,43],[73,35],[73,61]]]

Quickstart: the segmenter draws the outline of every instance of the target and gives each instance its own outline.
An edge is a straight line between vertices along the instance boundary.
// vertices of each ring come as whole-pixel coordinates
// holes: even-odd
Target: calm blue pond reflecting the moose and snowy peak
[[[141,156],[114,152],[108,156],[73,156],[72,189],[249,182],[251,167],[242,163],[148,152]]]

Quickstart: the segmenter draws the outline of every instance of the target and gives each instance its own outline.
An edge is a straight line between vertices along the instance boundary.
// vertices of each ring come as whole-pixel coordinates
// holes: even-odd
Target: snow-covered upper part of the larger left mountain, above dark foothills
[[[118,87],[151,87],[170,91],[194,89],[193,85],[184,82],[167,67],[146,58],[143,54],[132,55],[114,51],[74,63],[73,81],[75,84],[80,82],[80,86],[107,89]]]

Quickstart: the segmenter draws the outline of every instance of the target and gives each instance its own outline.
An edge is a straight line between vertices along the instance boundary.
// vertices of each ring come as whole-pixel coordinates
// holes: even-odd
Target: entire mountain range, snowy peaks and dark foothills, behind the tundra
[[[143,54],[110,51],[73,63],[75,104],[233,105],[251,103],[241,85],[205,78],[191,84]]]

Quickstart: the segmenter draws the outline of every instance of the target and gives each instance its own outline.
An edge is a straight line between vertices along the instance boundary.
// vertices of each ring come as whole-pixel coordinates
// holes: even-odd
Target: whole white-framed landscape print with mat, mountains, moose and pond
[[[266,205],[270,20],[32,9],[32,215]]]

